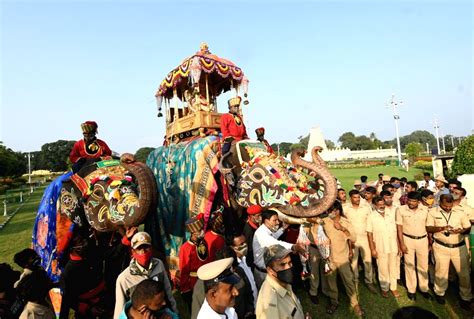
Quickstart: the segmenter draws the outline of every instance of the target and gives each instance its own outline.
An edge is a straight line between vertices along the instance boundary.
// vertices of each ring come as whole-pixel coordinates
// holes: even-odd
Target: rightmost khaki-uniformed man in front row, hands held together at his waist
[[[459,277],[460,305],[470,309],[472,292],[469,276],[469,256],[464,235],[471,230],[467,215],[453,208],[450,194],[440,196],[439,207],[430,209],[426,221],[426,231],[433,233],[433,253],[436,260],[434,292],[436,301],[444,304],[444,294],[448,288],[449,265],[452,262]]]

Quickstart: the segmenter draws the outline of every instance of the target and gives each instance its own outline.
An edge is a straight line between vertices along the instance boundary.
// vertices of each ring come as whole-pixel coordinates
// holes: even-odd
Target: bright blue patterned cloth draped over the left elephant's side
[[[53,282],[58,282],[61,274],[58,259],[61,251],[58,251],[58,240],[56,232],[57,205],[56,202],[61,193],[63,181],[69,179],[72,172],[68,172],[56,178],[46,188],[41,199],[35,224],[33,226],[33,249],[41,257],[41,265],[48,273]],[[72,231],[74,224],[71,223],[69,231]]]

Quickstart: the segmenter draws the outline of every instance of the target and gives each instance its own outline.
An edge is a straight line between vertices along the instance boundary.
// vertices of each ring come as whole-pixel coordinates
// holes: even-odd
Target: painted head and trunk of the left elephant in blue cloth
[[[123,158],[86,162],[63,182],[59,212],[102,232],[141,224],[156,205],[155,179],[145,164]]]

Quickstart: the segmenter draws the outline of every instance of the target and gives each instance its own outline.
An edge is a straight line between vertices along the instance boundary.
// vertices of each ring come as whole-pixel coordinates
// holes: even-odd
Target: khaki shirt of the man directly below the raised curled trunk
[[[334,221],[331,218],[326,217],[323,221],[324,231],[331,241],[331,255],[329,256],[329,260],[335,264],[347,263],[349,261],[349,244],[347,243],[347,240],[349,239],[352,242],[355,242],[356,240],[354,227],[352,227],[347,218],[341,217],[339,223],[349,231],[349,237],[343,231],[334,228]],[[311,227],[311,232],[313,233],[313,237],[316,238],[318,233],[317,224]]]

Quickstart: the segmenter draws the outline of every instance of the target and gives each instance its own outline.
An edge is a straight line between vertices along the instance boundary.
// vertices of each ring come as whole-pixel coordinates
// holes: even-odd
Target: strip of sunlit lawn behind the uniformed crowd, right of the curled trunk
[[[332,168],[331,173],[337,177],[341,182],[342,187],[348,191],[354,188],[354,180],[360,179],[362,175],[367,176],[368,182],[374,182],[378,179],[378,175],[383,173],[391,177],[396,176],[398,178],[406,177],[409,181],[414,180],[416,174],[422,173],[423,170],[418,168],[410,168],[406,170],[397,166],[376,166],[376,167],[364,167],[364,168]]]

